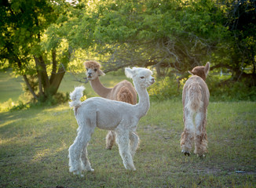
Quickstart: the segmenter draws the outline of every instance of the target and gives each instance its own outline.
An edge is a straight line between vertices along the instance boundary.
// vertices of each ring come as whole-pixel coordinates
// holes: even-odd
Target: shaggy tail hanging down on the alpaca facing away
[[[201,86],[195,81],[188,85],[188,104],[186,107],[192,111],[199,110],[203,106]]]

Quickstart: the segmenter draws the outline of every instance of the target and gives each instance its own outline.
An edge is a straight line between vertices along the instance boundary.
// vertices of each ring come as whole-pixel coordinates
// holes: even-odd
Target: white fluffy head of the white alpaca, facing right
[[[133,67],[131,69],[126,67],[125,73],[127,78],[133,79],[135,88],[138,86],[141,89],[146,89],[155,82],[155,78],[152,77],[152,71],[146,68]]]

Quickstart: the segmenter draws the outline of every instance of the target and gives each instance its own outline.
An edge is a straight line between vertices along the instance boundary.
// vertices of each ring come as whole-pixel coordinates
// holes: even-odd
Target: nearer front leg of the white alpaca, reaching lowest
[[[123,165],[127,170],[135,171],[133,157],[130,154],[129,132],[116,132],[116,143],[119,145],[119,154],[123,159]]]

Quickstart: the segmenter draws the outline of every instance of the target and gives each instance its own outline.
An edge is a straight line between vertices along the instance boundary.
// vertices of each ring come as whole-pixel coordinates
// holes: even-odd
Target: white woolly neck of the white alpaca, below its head
[[[147,114],[148,109],[150,107],[148,91],[147,89],[141,89],[139,87],[136,87],[136,85],[135,85],[135,89],[139,96],[139,103],[137,103],[137,106],[136,106],[138,109],[137,116],[141,118]]]

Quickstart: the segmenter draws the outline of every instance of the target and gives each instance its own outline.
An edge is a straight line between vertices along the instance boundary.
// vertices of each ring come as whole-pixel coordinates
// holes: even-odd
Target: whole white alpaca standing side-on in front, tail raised
[[[133,79],[133,85],[140,98],[136,105],[101,97],[86,99],[81,103],[84,87],[77,87],[71,92],[70,107],[74,107],[79,128],[75,141],[68,150],[70,172],[81,175],[82,170],[93,171],[86,148],[96,127],[115,131],[115,141],[125,168],[136,170],[133,155],[139,139],[134,132],[138,121],[148,112],[150,103],[147,88],[155,80],[152,78],[152,71],[145,68],[126,68],[125,73],[128,78]]]

